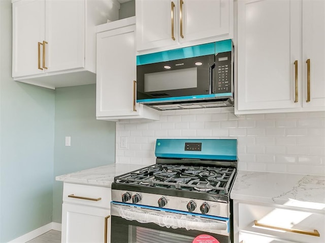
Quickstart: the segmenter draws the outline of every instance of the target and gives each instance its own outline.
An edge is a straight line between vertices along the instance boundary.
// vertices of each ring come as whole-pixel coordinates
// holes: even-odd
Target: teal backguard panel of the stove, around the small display
[[[201,151],[185,150],[185,143],[202,143]],[[237,160],[237,139],[157,139],[156,157]]]

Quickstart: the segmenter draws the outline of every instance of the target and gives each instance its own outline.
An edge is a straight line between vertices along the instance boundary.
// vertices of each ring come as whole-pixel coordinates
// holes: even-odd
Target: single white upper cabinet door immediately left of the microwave
[[[137,113],[134,35],[134,25],[97,35],[97,116]]]

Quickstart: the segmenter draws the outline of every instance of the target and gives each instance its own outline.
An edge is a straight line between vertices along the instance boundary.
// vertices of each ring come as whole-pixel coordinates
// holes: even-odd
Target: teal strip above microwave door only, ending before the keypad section
[[[137,56],[137,65],[149,63],[167,62],[172,60],[200,57],[215,54],[215,44],[208,43],[198,46],[179,48],[169,51],[150,53]]]

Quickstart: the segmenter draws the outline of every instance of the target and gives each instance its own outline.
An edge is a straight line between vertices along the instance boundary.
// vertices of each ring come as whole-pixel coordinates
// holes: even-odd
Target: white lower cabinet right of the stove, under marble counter
[[[320,210],[237,202],[234,212],[238,216],[234,220],[235,242],[325,242],[325,215]]]

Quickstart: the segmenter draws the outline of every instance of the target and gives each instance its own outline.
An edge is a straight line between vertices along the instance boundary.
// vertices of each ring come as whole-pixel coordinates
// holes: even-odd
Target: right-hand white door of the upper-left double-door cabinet
[[[85,1],[46,2],[47,71],[83,68]]]

